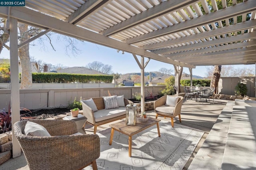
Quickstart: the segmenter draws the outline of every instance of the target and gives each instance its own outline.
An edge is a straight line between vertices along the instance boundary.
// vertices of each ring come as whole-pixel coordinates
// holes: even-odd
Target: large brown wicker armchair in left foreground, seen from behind
[[[24,152],[30,170],[77,170],[90,164],[97,170],[100,138],[97,134],[78,134],[74,121],[29,120],[42,125],[48,137],[27,136],[27,120],[14,123],[13,130]]]

